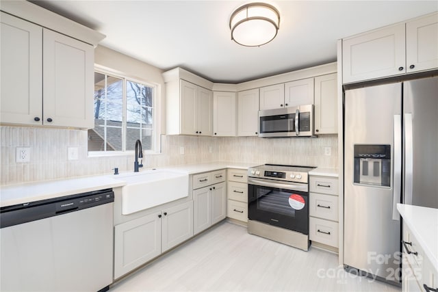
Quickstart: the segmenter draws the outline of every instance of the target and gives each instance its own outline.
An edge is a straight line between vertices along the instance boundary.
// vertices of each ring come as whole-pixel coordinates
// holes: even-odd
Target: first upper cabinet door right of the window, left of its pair
[[[196,91],[198,86],[185,80],[180,81],[180,133],[196,135]]]

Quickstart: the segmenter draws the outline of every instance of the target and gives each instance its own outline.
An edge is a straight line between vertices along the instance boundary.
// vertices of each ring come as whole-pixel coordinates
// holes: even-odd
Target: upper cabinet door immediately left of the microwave
[[[259,132],[259,89],[237,94],[237,136],[257,136]]]

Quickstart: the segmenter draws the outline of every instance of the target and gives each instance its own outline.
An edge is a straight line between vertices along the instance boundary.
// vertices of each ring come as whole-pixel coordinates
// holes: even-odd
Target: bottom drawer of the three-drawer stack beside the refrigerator
[[[326,245],[338,247],[338,224],[315,217],[310,217],[309,238]]]

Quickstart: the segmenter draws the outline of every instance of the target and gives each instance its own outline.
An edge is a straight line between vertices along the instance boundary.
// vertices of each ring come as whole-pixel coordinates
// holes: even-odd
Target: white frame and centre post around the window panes
[[[110,68],[106,68],[103,66],[94,65],[94,73],[100,73],[103,75],[110,75],[112,77],[116,77],[122,80],[123,83],[123,112],[122,112],[122,149],[123,150],[114,150],[114,151],[90,151],[88,150],[87,144],[87,152],[88,157],[105,157],[105,156],[123,156],[123,155],[133,155],[134,150],[126,150],[126,133],[127,133],[127,81],[131,81],[134,83],[140,83],[142,85],[146,85],[150,88],[153,88],[153,137],[151,140],[151,150],[143,150],[144,154],[160,154],[161,147],[161,113],[162,113],[162,103],[161,103],[161,85],[158,83],[154,83],[151,81],[146,81],[144,79],[140,79],[138,77],[133,77],[129,74],[119,72],[116,70],[112,70]],[[106,84],[105,84],[106,87]],[[94,109],[94,105],[93,105]],[[94,128],[93,128],[94,129]],[[105,130],[106,131],[106,130]],[[87,131],[88,133],[88,131]]]

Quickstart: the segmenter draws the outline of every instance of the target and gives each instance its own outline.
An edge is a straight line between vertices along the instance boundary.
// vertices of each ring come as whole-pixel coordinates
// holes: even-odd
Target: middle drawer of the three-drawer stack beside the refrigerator
[[[338,221],[337,196],[310,193],[309,206],[311,216]]]

